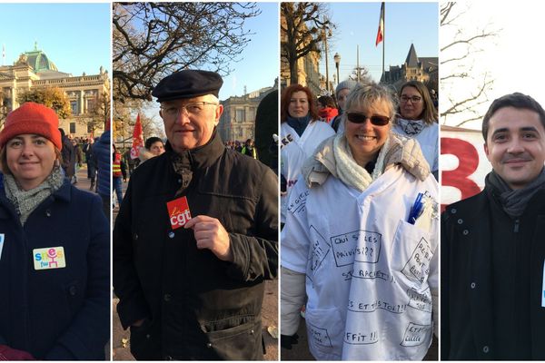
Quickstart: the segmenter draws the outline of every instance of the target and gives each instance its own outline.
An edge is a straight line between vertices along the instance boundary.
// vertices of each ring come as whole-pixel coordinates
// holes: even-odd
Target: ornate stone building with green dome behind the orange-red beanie
[[[35,44],[33,51],[20,54],[13,65],[0,66],[0,123],[19,107],[19,95],[36,88],[60,88],[68,97],[72,115],[59,120],[66,134],[90,137],[104,132],[104,124],[92,118],[101,98],[110,99],[110,79],[102,66],[98,74],[73,76],[60,72]]]

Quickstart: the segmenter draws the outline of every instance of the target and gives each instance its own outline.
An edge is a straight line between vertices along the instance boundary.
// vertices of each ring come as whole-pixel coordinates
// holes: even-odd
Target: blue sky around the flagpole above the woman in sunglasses
[[[360,45],[360,66],[366,67],[375,81],[382,70],[382,44],[375,46],[381,3],[330,3],[331,21],[337,25],[329,47],[329,74],[336,74],[333,55],[341,55],[339,76],[348,78],[356,66],[356,49]],[[386,3],[384,68],[401,65],[411,43],[420,57],[439,55],[437,3]],[[320,64],[325,75],[325,60]]]

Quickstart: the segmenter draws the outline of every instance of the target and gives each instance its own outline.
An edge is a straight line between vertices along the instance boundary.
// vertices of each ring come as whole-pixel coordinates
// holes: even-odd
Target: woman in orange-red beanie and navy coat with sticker
[[[0,360],[104,359],[110,244],[102,201],[60,167],[58,117],[38,103],[0,132]]]

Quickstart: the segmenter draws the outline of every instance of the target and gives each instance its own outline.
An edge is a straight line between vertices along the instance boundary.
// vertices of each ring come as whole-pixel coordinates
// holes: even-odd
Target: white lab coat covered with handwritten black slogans
[[[438,288],[438,216],[407,222],[418,192],[438,200],[401,166],[362,193],[337,178],[298,182],[282,231],[282,266],[306,274],[305,320],[318,360],[421,360],[431,344]],[[422,223],[426,225],[426,223]]]

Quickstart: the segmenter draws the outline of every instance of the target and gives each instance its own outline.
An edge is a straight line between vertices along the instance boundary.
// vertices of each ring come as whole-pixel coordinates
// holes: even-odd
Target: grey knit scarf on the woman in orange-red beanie
[[[45,178],[45,181],[35,189],[24,191],[19,187],[13,175],[4,175],[5,196],[15,206],[21,224],[25,225],[30,213],[32,213],[42,201],[57,191],[64,182],[64,172],[61,167],[55,165],[53,171]]]

